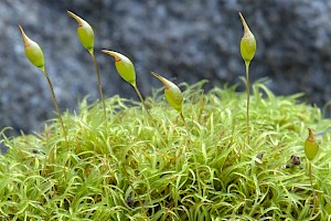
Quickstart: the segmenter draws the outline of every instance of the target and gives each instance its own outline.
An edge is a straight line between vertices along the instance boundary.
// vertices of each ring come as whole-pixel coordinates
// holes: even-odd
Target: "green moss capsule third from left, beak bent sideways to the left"
[[[109,54],[110,56],[114,56],[115,59],[115,66],[118,72],[118,74],[128,83],[136,86],[136,71],[132,62],[126,57],[125,55],[108,51],[108,50],[102,50],[103,53]]]

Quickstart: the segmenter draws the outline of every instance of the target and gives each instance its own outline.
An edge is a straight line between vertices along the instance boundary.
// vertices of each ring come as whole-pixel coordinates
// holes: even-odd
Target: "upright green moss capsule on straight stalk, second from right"
[[[241,41],[241,53],[243,60],[249,63],[253,60],[256,52],[256,41],[241,12],[239,17],[244,27],[244,35]]]

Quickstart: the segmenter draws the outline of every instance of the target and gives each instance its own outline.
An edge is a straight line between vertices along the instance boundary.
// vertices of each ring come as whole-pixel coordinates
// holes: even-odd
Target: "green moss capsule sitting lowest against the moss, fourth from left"
[[[182,110],[183,105],[183,94],[181,90],[173,84],[172,82],[168,81],[167,78],[162,77],[161,75],[151,72],[161,83],[164,85],[164,95],[168,103],[178,112]]]

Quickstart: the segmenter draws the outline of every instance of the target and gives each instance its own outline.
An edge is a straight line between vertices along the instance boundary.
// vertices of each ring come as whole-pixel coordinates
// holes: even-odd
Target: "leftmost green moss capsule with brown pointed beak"
[[[24,51],[25,55],[29,61],[36,67],[43,70],[44,69],[44,53],[42,49],[39,46],[38,43],[29,39],[23,31],[23,28],[19,25],[23,43],[24,43]]]

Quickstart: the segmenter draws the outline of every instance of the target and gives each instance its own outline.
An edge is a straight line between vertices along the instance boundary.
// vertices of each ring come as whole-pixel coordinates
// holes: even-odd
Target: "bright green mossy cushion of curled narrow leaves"
[[[139,103],[118,96],[54,119],[38,135],[7,138],[0,156],[2,220],[330,220],[330,134],[319,136],[313,187],[303,141],[331,120],[319,108],[253,85],[184,90],[184,124],[161,91]],[[258,156],[263,155],[261,160]],[[300,166],[284,168],[292,155]]]

